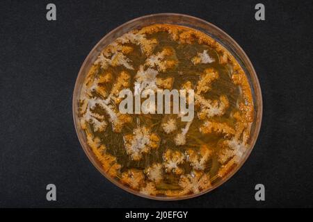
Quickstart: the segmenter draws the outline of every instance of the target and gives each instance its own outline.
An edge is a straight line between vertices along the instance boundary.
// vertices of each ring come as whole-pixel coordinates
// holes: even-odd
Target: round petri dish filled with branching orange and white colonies
[[[144,114],[142,106],[122,114],[122,89],[133,97],[192,89],[194,117],[182,121],[186,113],[174,109]],[[227,33],[162,13],[126,22],[96,44],[77,76],[72,111],[83,151],[103,176],[131,194],[182,200],[219,187],[246,162],[262,122],[262,93],[248,56]]]

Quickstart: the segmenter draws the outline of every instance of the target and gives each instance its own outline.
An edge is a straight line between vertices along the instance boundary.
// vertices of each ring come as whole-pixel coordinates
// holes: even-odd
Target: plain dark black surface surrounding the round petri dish
[[[266,21],[255,20],[264,3]],[[55,3],[57,21],[46,19]],[[158,12],[200,17],[241,45],[262,88],[247,162],[198,198],[164,202],[115,187],[89,162],[72,121],[83,60],[106,33]],[[1,1],[0,207],[312,207],[312,1]],[[48,202],[46,185],[57,187]],[[266,200],[254,198],[255,185]]]

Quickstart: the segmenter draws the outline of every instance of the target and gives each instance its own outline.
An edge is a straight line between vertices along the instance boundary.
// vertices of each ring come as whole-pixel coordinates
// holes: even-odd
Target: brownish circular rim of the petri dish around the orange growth
[[[93,155],[93,152],[90,150],[88,145],[86,144],[86,135],[83,133],[83,130],[80,127],[79,124],[79,118],[78,118],[78,108],[79,108],[79,97],[81,94],[81,87],[83,85],[83,80],[86,78],[86,75],[88,74],[88,70],[90,69],[91,65],[99,55],[99,53],[104,49],[105,46],[113,42],[117,37],[120,37],[121,35],[136,29],[141,28],[143,26],[149,26],[152,24],[176,24],[180,26],[187,26],[190,28],[197,29],[199,31],[202,31],[203,33],[206,33],[207,35],[214,38],[216,41],[218,41],[220,44],[222,44],[232,55],[236,58],[236,60],[239,62],[239,65],[241,65],[243,71],[245,71],[246,76],[249,80],[251,91],[252,91],[252,98],[255,108],[255,115],[254,115],[254,121],[252,122],[251,126],[251,132],[250,132],[250,139],[248,141],[248,152],[246,152],[246,155],[243,157],[243,160],[240,164],[236,166],[235,169],[232,170],[231,173],[228,173],[225,178],[222,180],[216,182],[213,187],[210,189],[201,191],[198,194],[190,194],[186,196],[177,196],[177,197],[168,197],[168,196],[147,196],[145,194],[141,194],[138,191],[134,191],[133,189],[130,189],[129,187],[126,187],[125,185],[122,185],[117,180],[114,180],[110,176],[107,176],[104,170],[102,169],[102,166],[100,162],[95,158],[95,155]],[[248,159],[250,153],[252,152],[252,149],[255,146],[255,142],[257,141],[257,137],[259,135],[259,130],[262,123],[262,110],[263,110],[263,104],[262,104],[262,92],[261,87],[259,85],[259,80],[257,78],[257,74],[255,73],[255,69],[252,66],[252,63],[250,62],[248,56],[246,53],[241,49],[241,46],[237,44],[230,35],[222,31],[220,28],[215,26],[214,24],[211,24],[207,21],[204,21],[203,19],[199,19],[197,17],[193,17],[190,15],[183,15],[183,14],[177,14],[177,13],[159,13],[159,14],[152,14],[152,15],[145,15],[143,17],[138,17],[136,19],[132,19],[129,22],[126,22],[125,24],[122,24],[121,26],[118,26],[117,28],[113,29],[113,31],[106,34],[90,51],[88,56],[83,62],[83,65],[81,65],[81,69],[79,70],[79,74],[77,76],[77,80],[75,82],[74,86],[74,92],[73,92],[73,100],[72,100],[72,113],[73,113],[73,119],[74,119],[74,127],[77,132],[77,136],[79,138],[79,142],[83,148],[83,151],[88,156],[88,159],[90,162],[93,163],[93,165],[97,168],[97,170],[102,173],[102,175],[111,181],[114,185],[120,187],[121,189],[124,189],[125,191],[128,191],[131,194],[135,194],[137,196],[141,196],[144,198],[150,198],[154,200],[184,200],[188,198],[194,198],[196,196],[200,196],[202,194],[206,194],[209,191],[212,191],[213,189],[216,189],[220,185],[222,185],[224,182],[232,178],[234,174],[239,171],[239,169],[243,166],[243,164]]]

